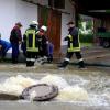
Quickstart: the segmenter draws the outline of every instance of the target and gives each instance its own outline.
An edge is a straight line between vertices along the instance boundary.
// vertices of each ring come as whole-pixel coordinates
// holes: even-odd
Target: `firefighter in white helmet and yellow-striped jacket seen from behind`
[[[30,28],[25,31],[23,41],[26,44],[26,66],[34,66],[35,57],[38,53],[38,43],[37,43],[37,22],[32,21]]]

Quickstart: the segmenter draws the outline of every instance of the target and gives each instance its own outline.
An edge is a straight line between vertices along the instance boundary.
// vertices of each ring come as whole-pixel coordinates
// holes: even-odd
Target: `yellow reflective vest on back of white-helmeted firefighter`
[[[29,29],[25,32],[26,35],[26,51],[28,52],[38,52],[38,45],[36,41],[36,31]]]

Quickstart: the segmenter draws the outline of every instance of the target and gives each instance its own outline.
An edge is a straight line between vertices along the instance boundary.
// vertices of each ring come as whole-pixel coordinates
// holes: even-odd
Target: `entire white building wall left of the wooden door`
[[[0,33],[3,40],[9,41],[15,22],[23,24],[24,33],[32,20],[37,20],[37,6],[21,0],[0,0]]]

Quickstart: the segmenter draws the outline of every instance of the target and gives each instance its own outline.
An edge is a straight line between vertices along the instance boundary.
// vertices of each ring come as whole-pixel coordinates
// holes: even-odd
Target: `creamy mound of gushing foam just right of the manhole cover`
[[[59,95],[56,97],[56,99],[61,101],[85,101],[89,99],[89,96],[86,89],[80,88],[79,86],[68,86],[59,90]]]

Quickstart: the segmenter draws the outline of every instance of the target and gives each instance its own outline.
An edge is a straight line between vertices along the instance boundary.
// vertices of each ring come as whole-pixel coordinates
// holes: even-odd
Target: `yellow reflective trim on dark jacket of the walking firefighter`
[[[67,52],[79,52],[80,51],[79,36],[78,36],[77,45],[75,45],[73,36],[70,34],[67,37],[68,37]]]

